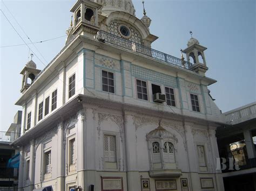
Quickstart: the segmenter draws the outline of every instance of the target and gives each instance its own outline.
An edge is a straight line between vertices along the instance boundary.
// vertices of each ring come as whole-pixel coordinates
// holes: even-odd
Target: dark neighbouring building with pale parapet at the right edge
[[[228,125],[218,128],[217,140],[219,155],[227,161],[223,169],[225,191],[255,191],[256,102],[223,115]]]

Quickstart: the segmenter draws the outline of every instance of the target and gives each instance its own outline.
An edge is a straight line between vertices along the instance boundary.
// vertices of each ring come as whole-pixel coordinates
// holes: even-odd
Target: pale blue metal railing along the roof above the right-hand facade
[[[165,54],[163,52],[156,51],[155,49],[140,45],[138,43],[133,43],[130,40],[117,37],[113,34],[110,34],[104,31],[98,31],[98,33],[96,34],[96,39],[98,39],[99,41],[102,41],[103,43],[117,45],[119,47],[129,49],[130,51],[140,53],[146,56],[150,56],[151,58],[164,61],[169,65],[175,65],[181,68],[192,70],[192,63],[190,62],[181,60],[172,55]]]

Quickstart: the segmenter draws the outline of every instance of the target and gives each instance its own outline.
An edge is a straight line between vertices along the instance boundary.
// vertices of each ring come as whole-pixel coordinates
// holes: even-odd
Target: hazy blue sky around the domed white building
[[[159,37],[152,48],[180,58],[179,50],[187,47],[189,31],[200,45],[208,48],[206,76],[218,81],[208,89],[223,112],[256,101],[255,0],[144,1],[147,16],[152,19],[150,32]],[[7,130],[17,110],[22,110],[15,105],[21,96],[19,73],[30,53],[36,54],[33,61],[38,69],[43,69],[55,57],[65,45],[63,36],[70,25],[70,8],[75,2],[1,0],[1,10],[26,43],[60,38],[29,44],[30,48],[3,47],[24,42],[0,12],[0,131]],[[133,4],[136,16],[142,18],[142,1],[133,0]]]

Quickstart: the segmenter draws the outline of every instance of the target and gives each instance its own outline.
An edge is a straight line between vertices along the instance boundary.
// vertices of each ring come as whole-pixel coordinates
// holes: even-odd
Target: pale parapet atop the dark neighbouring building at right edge
[[[235,125],[256,118],[256,102],[224,113],[226,123]]]

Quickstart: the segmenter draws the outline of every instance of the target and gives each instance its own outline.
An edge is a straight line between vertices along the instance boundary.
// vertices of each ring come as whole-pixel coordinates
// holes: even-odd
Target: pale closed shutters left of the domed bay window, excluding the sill
[[[116,162],[116,136],[104,135],[104,160]]]

